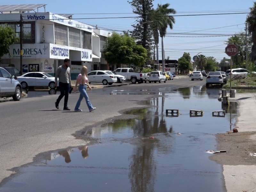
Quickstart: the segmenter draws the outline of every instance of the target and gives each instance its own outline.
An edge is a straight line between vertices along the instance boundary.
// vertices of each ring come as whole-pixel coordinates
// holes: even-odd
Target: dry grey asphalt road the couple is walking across
[[[79,93],[69,95],[68,107],[71,111],[63,111],[64,98],[60,109],[54,102],[59,96],[48,92],[28,92],[33,97],[20,101],[0,102],[0,186],[4,178],[15,173],[13,169],[31,163],[38,154],[50,150],[85,145],[84,140],[75,139],[72,134],[87,126],[93,126],[120,116],[119,111],[141,107],[138,101],[146,100],[162,88],[190,87],[205,84],[203,81],[191,81],[188,77],[175,77],[166,83],[116,84],[120,86],[101,86],[87,90],[90,101],[97,109],[89,112],[85,101],[81,103],[82,113],[74,112]],[[93,86],[93,84],[92,84]],[[95,85],[95,87],[97,87]],[[143,94],[143,90],[151,90]],[[133,94],[131,94],[133,93]]]

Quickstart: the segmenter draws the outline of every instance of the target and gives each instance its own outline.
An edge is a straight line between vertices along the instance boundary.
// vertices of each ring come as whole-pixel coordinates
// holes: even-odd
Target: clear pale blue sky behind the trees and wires
[[[10,3],[11,2],[11,3]],[[220,62],[225,53],[225,41],[233,34],[245,32],[245,12],[253,6],[252,0],[154,0],[157,4],[170,3],[170,8],[176,10],[173,29],[167,29],[164,38],[165,57],[178,60],[184,52],[189,52],[191,58],[199,52],[205,56],[213,56]],[[0,4],[46,4],[46,12],[74,14],[73,19],[98,26],[101,29],[114,31],[132,30],[135,22],[132,7],[127,0],[73,0],[73,1],[18,1],[1,0]],[[43,12],[43,9],[39,9]],[[192,14],[242,13],[224,15],[188,16]],[[179,16],[185,15],[185,16]],[[109,17],[114,17],[107,19]],[[93,18],[93,19],[92,19]],[[94,19],[102,18],[102,19]],[[161,59],[161,39],[159,38],[159,59]]]

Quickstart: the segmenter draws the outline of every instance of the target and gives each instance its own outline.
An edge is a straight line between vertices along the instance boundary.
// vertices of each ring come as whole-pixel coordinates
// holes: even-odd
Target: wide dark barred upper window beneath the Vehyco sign
[[[20,22],[19,21],[6,21],[6,22],[0,22],[0,25],[2,27],[9,26],[11,27],[15,33],[16,37],[18,37],[18,41],[15,43],[20,43]],[[35,36],[36,36],[36,30],[35,30],[35,21],[23,21],[23,38],[22,43],[35,43]]]

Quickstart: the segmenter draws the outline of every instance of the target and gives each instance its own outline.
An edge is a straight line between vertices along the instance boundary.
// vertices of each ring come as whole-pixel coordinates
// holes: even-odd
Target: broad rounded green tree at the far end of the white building
[[[147,50],[142,45],[137,45],[134,38],[116,32],[107,38],[107,44],[103,47],[102,53],[109,64],[118,66],[133,64],[141,67],[147,59]]]

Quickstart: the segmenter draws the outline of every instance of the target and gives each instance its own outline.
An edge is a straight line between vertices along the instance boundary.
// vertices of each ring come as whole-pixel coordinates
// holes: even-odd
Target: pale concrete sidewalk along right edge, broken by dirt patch
[[[236,93],[235,98],[228,99],[238,103],[239,115],[235,124],[238,132],[256,131],[256,93]],[[250,140],[256,145],[256,134]],[[228,192],[256,191],[255,165],[223,165],[223,175]]]

